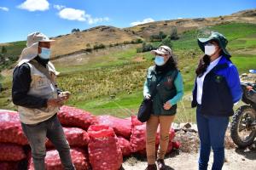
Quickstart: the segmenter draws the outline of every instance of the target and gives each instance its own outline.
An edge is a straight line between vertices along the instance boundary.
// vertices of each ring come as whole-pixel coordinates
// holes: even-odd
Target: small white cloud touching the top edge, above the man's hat
[[[49,3],[47,0],[26,0],[24,3],[21,3],[18,8],[28,11],[44,11],[49,9]]]

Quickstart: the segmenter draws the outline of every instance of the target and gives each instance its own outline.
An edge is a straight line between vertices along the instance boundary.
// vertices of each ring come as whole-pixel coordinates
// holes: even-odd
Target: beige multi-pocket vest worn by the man
[[[49,77],[38,71],[38,69],[32,65],[32,63],[26,63],[30,67],[32,82],[30,84],[30,89],[28,95],[40,97],[43,99],[56,99],[57,90],[55,88],[54,80],[50,80]],[[38,64],[38,63],[36,63]],[[50,71],[49,66],[47,65],[48,71]],[[50,72],[49,72],[49,75]],[[20,122],[25,124],[35,124],[38,122],[44,122],[48,120],[51,116],[54,116],[55,113],[59,111],[58,107],[43,107],[43,108],[27,108],[23,106],[18,106],[18,111],[20,113]]]

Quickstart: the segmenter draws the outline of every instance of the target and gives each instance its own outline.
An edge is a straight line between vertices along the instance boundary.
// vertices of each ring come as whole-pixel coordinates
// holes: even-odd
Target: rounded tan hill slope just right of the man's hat
[[[90,48],[96,44],[108,46],[113,43],[135,40],[137,37],[119,28],[112,26],[99,26],[88,31],[79,31],[63,37],[56,37],[52,46],[52,56],[70,54],[85,49],[90,43]]]

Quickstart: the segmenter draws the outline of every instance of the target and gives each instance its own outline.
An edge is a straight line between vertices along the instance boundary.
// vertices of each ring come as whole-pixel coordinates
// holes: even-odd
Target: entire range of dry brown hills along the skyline
[[[86,48],[94,48],[96,45],[105,45],[135,41],[138,38],[148,40],[151,35],[159,34],[160,31],[170,34],[172,27],[177,27],[177,33],[189,31],[205,26],[217,26],[230,22],[256,24],[256,9],[244,10],[235,14],[218,16],[212,18],[161,20],[147,24],[127,28],[116,28],[113,26],[96,26],[84,31],[77,31],[67,35],[53,37],[56,41],[52,45],[52,57],[60,57],[68,54],[83,52]],[[17,59],[26,42],[0,43],[7,47],[6,57]]]

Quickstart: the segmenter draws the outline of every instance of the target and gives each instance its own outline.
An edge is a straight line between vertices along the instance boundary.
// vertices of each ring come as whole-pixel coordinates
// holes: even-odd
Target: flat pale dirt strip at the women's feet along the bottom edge
[[[256,170],[256,149],[225,150],[226,161],[223,170]],[[172,152],[166,156],[166,170],[197,170],[198,153]],[[131,156],[124,160],[125,170],[143,170],[147,166],[145,157]],[[208,169],[212,167],[212,153]]]

